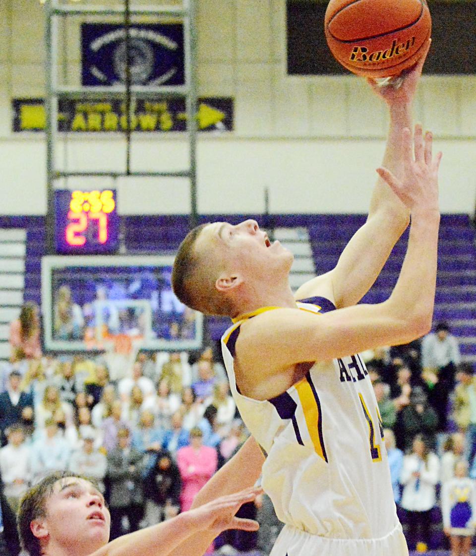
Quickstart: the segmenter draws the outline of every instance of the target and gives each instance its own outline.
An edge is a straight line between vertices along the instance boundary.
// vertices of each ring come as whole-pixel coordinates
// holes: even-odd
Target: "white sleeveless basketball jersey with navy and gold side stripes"
[[[298,306],[316,318],[335,309],[323,297]],[[272,309],[235,319],[221,344],[241,418],[265,451],[262,486],[276,515],[323,537],[384,537],[398,518],[377,401],[360,356],[316,363],[305,378],[269,400],[237,390],[233,358],[240,325]]]

